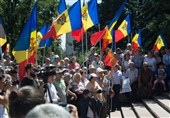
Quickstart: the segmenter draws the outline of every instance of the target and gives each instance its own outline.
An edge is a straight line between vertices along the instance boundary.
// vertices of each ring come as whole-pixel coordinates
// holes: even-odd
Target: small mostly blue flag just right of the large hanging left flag
[[[49,29],[50,26],[44,25],[37,33],[37,37],[40,40],[40,42],[38,43],[39,47],[50,47],[52,45],[52,38],[41,40],[43,36],[48,32]]]

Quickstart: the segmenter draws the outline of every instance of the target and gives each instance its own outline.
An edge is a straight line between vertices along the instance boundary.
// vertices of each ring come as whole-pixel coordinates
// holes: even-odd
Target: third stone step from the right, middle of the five
[[[139,118],[154,118],[142,103],[132,103],[132,107]]]

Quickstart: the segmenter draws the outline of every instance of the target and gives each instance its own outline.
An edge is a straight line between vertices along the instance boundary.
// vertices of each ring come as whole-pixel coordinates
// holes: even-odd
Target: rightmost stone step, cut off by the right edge
[[[155,96],[154,99],[161,107],[170,113],[170,99],[164,96]]]

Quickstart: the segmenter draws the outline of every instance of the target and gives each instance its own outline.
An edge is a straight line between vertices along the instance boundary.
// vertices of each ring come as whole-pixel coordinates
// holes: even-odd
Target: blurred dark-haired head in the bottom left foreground
[[[9,115],[22,118],[36,105],[45,103],[44,96],[38,89],[25,86],[9,95]]]

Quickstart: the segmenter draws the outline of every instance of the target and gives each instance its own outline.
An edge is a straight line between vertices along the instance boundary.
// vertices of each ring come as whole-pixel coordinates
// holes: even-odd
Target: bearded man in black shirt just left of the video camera
[[[35,67],[33,64],[27,64],[25,66],[25,72],[26,75],[21,81],[21,87],[23,86],[33,86],[38,87],[38,83],[35,80],[36,74],[35,74]]]

